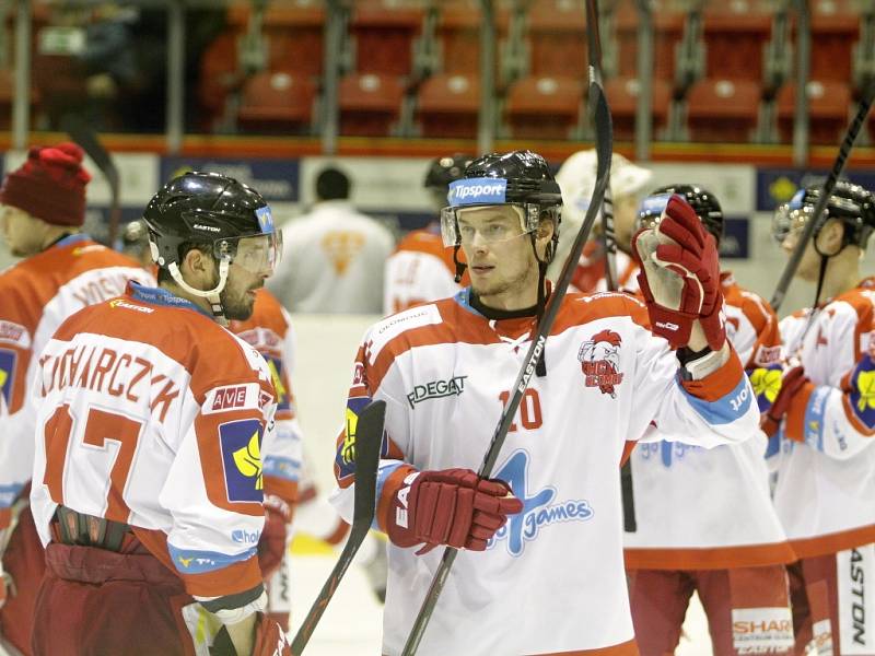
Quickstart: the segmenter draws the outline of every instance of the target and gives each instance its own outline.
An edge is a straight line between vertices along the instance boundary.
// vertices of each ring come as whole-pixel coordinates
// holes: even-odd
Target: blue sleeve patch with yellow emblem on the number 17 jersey
[[[260,503],[264,499],[261,430],[261,422],[257,419],[231,421],[219,426],[230,502]]]

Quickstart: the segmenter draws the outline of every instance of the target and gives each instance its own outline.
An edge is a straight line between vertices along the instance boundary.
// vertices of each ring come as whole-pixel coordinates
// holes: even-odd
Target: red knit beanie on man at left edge
[[[27,152],[27,161],[10,173],[0,187],[0,203],[24,210],[55,225],[82,225],[85,220],[85,185],[82,149],[59,143]]]

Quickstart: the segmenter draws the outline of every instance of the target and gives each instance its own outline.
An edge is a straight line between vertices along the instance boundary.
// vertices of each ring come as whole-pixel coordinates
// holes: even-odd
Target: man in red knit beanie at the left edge
[[[0,602],[9,594],[0,630],[24,654],[44,570],[27,503],[35,420],[27,396],[36,354],[74,312],[121,293],[128,279],[153,280],[80,233],[90,179],[81,149],[60,143],[32,148],[0,188],[3,239],[24,258],[0,273],[0,546],[10,581],[8,589],[0,586]]]

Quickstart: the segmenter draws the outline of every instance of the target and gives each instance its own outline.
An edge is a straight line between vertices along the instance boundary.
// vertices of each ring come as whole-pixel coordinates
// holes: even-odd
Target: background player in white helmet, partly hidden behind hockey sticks
[[[568,259],[574,235],[583,224],[590,197],[595,188],[596,152],[595,150],[578,151],[562,163],[556,174],[556,181],[562,189],[564,201],[563,219],[565,230],[559,238],[557,258],[548,271],[555,279]],[[638,269],[630,257],[629,247],[635,227],[638,206],[646,192],[653,174],[620,154],[614,153],[610,163],[610,192],[614,200],[614,235],[617,242],[617,285],[630,291],[638,290],[635,274]],[[600,231],[597,223],[594,232]],[[605,244],[602,236],[588,242],[581,255],[574,277],[571,280],[581,292],[605,291]]]

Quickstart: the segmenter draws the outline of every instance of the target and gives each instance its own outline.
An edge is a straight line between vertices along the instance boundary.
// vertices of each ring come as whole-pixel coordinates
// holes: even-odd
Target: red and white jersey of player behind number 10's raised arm
[[[721,276],[726,336],[758,394],[769,373],[780,379],[778,317],[756,294]],[[773,398],[772,398],[773,400]],[[786,563],[795,555],[772,506],[763,460],[766,437],[703,449],[665,430],[631,456],[638,530],[626,534],[627,567],[705,570]],[[695,500],[695,501],[692,501]]]

